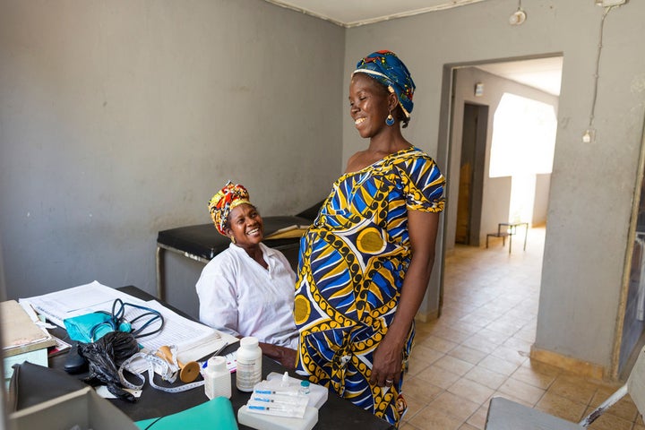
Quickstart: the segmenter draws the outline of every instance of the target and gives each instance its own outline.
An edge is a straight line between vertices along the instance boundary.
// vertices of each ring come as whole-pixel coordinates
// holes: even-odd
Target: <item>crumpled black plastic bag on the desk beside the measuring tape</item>
[[[125,391],[118,375],[121,364],[139,352],[139,343],[134,336],[124,331],[110,331],[93,343],[79,344],[79,352],[90,365],[90,376],[83,381],[91,386],[107,385],[116,397],[133,402],[134,396]]]

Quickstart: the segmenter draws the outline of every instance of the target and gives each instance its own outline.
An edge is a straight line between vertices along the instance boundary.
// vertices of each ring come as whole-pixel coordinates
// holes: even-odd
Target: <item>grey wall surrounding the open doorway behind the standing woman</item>
[[[583,144],[581,135],[589,123],[603,9],[566,0],[523,6],[528,19],[517,27],[508,23],[516,4],[489,0],[350,29],[346,68],[375,49],[397,52],[417,82],[406,136],[431,154],[447,154],[447,142],[438,142],[444,64],[563,54],[536,346],[608,367],[641,146],[645,2],[629,2],[606,19],[592,144]],[[348,120],[347,102],[344,114],[348,159],[365,142]],[[447,167],[446,156],[438,161]],[[431,287],[428,305],[439,295],[438,285]]]

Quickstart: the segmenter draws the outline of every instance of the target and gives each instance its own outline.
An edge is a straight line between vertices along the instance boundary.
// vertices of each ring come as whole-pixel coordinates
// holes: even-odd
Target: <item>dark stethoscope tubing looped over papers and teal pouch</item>
[[[125,320],[125,306],[134,307],[136,309],[141,309],[145,311],[143,314],[136,316],[130,321]],[[99,334],[99,331],[125,331],[126,333],[131,333],[135,338],[143,338],[146,336],[151,336],[153,334],[159,333],[164,326],[164,317],[163,315],[150,307],[133,305],[132,303],[124,303],[123,300],[117,298],[112,304],[112,313],[106,311],[99,311],[100,314],[107,314],[109,318],[103,323],[96,324],[91,328],[90,338],[93,342]],[[147,318],[147,320],[146,320]],[[134,323],[143,322],[141,327],[134,328]],[[155,323],[158,323],[156,325]],[[155,325],[153,325],[155,324]],[[105,334],[105,333],[103,333]]]

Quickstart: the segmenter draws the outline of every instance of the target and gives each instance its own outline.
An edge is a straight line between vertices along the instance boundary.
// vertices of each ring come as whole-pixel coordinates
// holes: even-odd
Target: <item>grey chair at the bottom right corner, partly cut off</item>
[[[636,363],[632,368],[627,383],[609,396],[598,408],[594,409],[580,423],[572,423],[559,417],[554,417],[538,409],[532,409],[512,400],[495,397],[488,406],[486,430],[580,430],[587,428],[598,417],[611,408],[618,400],[629,393],[641,415],[645,411],[645,347],[641,349]]]

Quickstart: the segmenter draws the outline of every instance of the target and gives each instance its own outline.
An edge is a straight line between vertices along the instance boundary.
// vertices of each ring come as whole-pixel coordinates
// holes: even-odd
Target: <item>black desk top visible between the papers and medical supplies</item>
[[[132,286],[122,287],[118,289],[127,294],[130,294],[131,296],[141,298],[142,300],[151,300],[155,298],[145,291]],[[172,309],[177,314],[181,314],[186,318],[191,318],[190,316],[177,310],[171,305],[163,305],[166,305],[168,309]],[[61,335],[62,338],[66,336],[66,333],[63,329],[56,329],[56,331],[56,335]],[[228,347],[224,350],[224,353],[236,350],[237,346],[238,345],[236,344]],[[63,369],[65,357],[66,356],[64,355],[53,357],[50,360],[49,366]],[[267,375],[271,372],[284,374],[285,370],[286,369],[283,366],[274,362],[273,360],[267,357],[262,357],[262,379],[266,379]],[[70,375],[70,377],[75,378],[82,378],[84,376],[87,376],[87,374]],[[291,373],[291,376],[302,379],[302,377],[297,374]],[[238,391],[236,389],[235,375],[231,379],[231,403],[233,404],[233,410],[237,416],[237,409],[246,404],[250,397],[250,393]],[[135,403],[128,403],[125,400],[110,401],[118,409],[123,410],[128,417],[131,417],[133,419],[133,421],[140,421],[142,419],[162,417],[165,415],[174,414],[176,412],[192,408],[193,406],[197,406],[207,400],[208,398],[204,394],[202,387],[195,388],[190,391],[168,393],[152,388],[146,377],[146,383],[143,387],[142,396]],[[244,430],[250,429],[251,427],[240,425],[239,428]],[[314,428],[319,430],[357,430],[359,428],[370,430],[384,430],[394,429],[394,426],[391,426],[389,423],[383,421],[380,418],[374,417],[372,413],[358,408],[350,401],[341,399],[334,392],[330,392],[327,402],[325,402],[323,407],[319,410],[318,424],[314,426]]]

